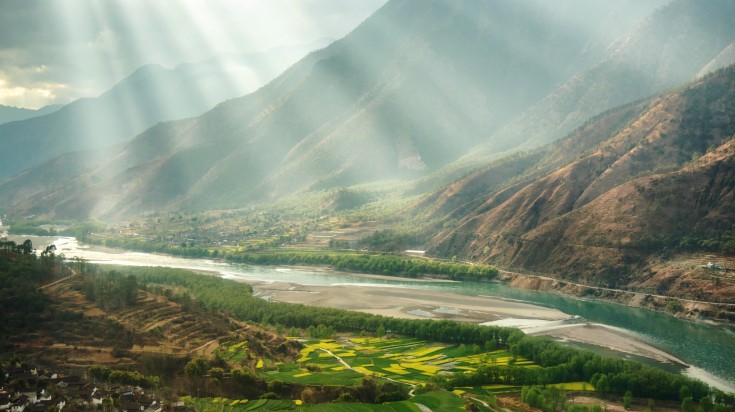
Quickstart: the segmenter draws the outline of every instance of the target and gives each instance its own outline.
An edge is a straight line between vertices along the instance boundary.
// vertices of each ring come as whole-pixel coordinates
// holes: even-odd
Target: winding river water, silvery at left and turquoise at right
[[[17,237],[16,241],[20,238]],[[34,244],[49,238],[30,237]],[[140,252],[113,251],[80,245],[74,238],[56,238],[58,253],[81,257],[92,263],[129,266],[167,266],[219,273],[244,282],[290,282],[301,285],[389,286],[493,296],[554,308],[591,322],[624,331],[690,365],[684,373],[729,392],[735,392],[735,332],[729,326],[709,325],[641,308],[584,300],[553,292],[512,288],[484,282],[421,282],[407,279],[373,278],[309,268],[254,266],[210,259],[188,259]],[[510,319],[510,324],[513,320]]]

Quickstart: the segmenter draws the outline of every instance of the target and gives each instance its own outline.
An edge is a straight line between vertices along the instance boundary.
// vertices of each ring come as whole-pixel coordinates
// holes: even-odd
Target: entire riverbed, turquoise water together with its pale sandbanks
[[[40,240],[37,238],[36,242]],[[521,327],[529,334],[562,336],[598,350],[601,347],[612,349],[613,352],[609,353],[634,355],[636,359],[647,357],[669,365],[686,363],[692,365],[688,371],[693,376],[711,384],[724,385],[721,386],[723,388],[730,388],[733,385],[730,377],[735,376],[735,370],[728,369],[729,363],[725,362],[730,356],[735,356],[731,353],[735,351],[730,343],[732,332],[726,326],[697,324],[668,314],[605,303],[599,299],[565,297],[543,291],[543,288],[534,291],[502,283],[376,277],[328,268],[243,265],[95,246],[80,247],[73,239],[64,239],[56,244],[58,250],[67,256],[84,257],[92,263],[168,266],[208,275],[219,273],[226,279],[253,285],[256,295],[269,300],[400,318],[496,321],[501,325]],[[590,324],[604,325],[604,328],[586,329]],[[570,333],[574,330],[580,333]],[[682,333],[688,336],[686,341],[680,339]],[[606,338],[600,341],[599,336]]]

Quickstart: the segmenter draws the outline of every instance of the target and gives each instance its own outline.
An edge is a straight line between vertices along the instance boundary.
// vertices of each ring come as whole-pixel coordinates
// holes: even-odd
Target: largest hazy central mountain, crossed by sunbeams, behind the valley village
[[[148,129],[29,204],[111,218],[425,175],[598,59],[604,11],[622,10],[607,4],[580,25],[543,2],[393,0],[257,92]]]

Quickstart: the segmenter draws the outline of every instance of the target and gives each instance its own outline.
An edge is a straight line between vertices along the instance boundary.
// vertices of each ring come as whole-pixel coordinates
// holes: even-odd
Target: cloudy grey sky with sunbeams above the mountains
[[[387,0],[0,0],[0,105],[98,96],[145,64],[339,39]]]

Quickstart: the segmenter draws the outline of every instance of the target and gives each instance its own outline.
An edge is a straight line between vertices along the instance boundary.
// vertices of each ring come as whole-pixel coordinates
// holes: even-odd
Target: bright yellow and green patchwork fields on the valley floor
[[[357,386],[365,376],[379,380],[392,380],[408,386],[417,386],[441,374],[474,371],[483,364],[538,367],[522,357],[514,357],[507,350],[482,351],[478,347],[430,343],[413,338],[340,337],[303,341],[304,347],[295,362],[275,363],[269,359],[257,359],[258,375],[267,381],[281,381],[302,385]],[[220,347],[220,356],[228,362],[246,359],[247,345],[227,342]],[[218,400],[197,399],[192,405],[203,412],[241,412],[255,410],[297,411],[420,411],[416,403],[432,410],[460,410],[468,394],[490,400],[501,393],[518,393],[520,387],[494,385],[475,388],[457,388],[429,392],[408,401],[388,402],[380,405],[361,403],[328,403],[297,405],[294,401]]]

